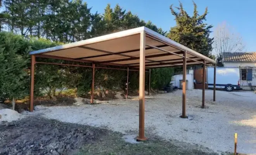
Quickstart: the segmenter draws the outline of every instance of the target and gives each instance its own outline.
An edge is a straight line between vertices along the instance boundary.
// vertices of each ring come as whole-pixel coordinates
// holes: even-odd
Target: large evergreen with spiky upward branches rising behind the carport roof
[[[197,5],[194,4],[194,14],[189,16],[183,9],[183,5],[180,2],[180,7],[176,7],[178,12],[173,9],[173,5],[170,6],[171,14],[175,16],[176,26],[170,29],[168,38],[174,40],[192,50],[195,50],[203,55],[209,56],[212,51],[213,38],[210,38],[210,29],[212,25],[204,23],[206,21],[206,15],[208,9],[206,7],[204,14],[199,15],[197,11]]]

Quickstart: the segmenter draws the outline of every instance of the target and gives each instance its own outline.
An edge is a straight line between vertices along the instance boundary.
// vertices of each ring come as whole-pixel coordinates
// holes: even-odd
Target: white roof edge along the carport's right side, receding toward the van
[[[185,47],[185,46],[183,46],[183,45],[181,45],[181,44],[179,44],[179,43],[177,43],[177,42],[171,40],[170,38],[167,38],[167,37],[165,37],[165,36],[163,36],[163,35],[161,35],[161,34],[155,32],[155,31],[153,31],[152,29],[149,29],[149,28],[144,27],[144,31],[146,31],[147,33],[149,33],[149,35],[151,34],[151,35],[153,35],[153,36],[156,36],[156,37],[159,38],[160,40],[166,41],[167,43],[170,43],[171,45],[174,45],[174,46],[176,46],[176,47],[178,47],[178,48],[181,48],[181,49],[183,49],[183,50],[186,50],[187,52],[192,53],[192,54],[194,54],[194,55],[196,55],[196,56],[198,56],[198,57],[201,57],[201,58],[205,59],[205,60],[208,61],[208,62],[212,62],[212,63],[216,64],[216,62],[215,62],[213,59],[210,59],[210,58],[208,58],[208,57],[206,57],[206,56],[204,56],[204,55],[202,55],[202,54],[200,54],[200,53],[198,53],[198,52],[196,52],[196,51],[194,51],[194,50],[191,50],[190,48],[187,48],[187,47]]]

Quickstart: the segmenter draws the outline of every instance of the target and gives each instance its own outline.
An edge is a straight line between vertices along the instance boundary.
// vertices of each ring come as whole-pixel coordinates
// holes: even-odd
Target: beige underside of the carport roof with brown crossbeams
[[[183,51],[178,48],[166,45],[148,34],[146,35],[145,44],[145,67],[155,68],[183,65],[183,57],[180,57],[183,56]],[[163,50],[155,49],[147,45],[158,47],[163,50],[176,53],[177,55],[166,51],[164,52]],[[40,55],[71,58],[74,60],[83,60],[99,64],[139,67],[140,34],[133,34],[122,38],[115,38],[112,40],[56,50],[53,52],[45,52]],[[202,58],[192,55],[192,53],[189,52],[187,52],[187,58],[190,58],[187,59],[187,65],[196,65],[203,62]],[[206,63],[210,64],[211,62],[206,61]]]

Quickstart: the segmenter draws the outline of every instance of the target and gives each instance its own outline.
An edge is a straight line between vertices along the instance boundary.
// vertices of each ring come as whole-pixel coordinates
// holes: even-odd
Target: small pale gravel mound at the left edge
[[[0,124],[1,122],[4,122],[4,121],[7,121],[7,122],[17,121],[22,117],[23,116],[21,114],[19,114],[18,112],[12,109],[0,110]]]

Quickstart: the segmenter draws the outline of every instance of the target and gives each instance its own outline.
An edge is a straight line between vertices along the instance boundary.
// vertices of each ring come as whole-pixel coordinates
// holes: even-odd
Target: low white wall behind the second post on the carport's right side
[[[170,83],[173,83],[173,86],[176,86],[178,88],[180,88],[180,80],[183,79],[183,75],[179,74],[179,75],[175,75],[172,78],[172,81]],[[187,74],[186,79],[188,80],[188,90],[192,90],[194,88],[194,75],[193,74]]]

